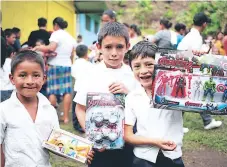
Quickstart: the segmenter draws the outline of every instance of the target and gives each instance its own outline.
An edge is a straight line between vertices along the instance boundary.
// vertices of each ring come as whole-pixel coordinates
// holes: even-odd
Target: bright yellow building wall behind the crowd
[[[31,31],[37,30],[37,20],[45,17],[47,30],[53,30],[53,19],[62,17],[68,22],[68,31],[75,37],[75,9],[73,1],[2,1],[2,28],[18,27],[21,29],[21,43],[27,41]]]

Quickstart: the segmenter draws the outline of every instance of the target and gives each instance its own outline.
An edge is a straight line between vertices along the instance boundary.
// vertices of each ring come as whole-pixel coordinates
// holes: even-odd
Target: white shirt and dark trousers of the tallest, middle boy
[[[104,62],[101,62],[93,70],[91,78],[84,80],[83,84],[80,84],[74,101],[86,106],[87,93],[109,93],[109,86],[113,82],[123,83],[129,91],[139,86],[127,65],[122,64],[119,69],[111,69],[107,68]],[[125,149],[96,151],[90,167],[131,167],[130,162],[132,161],[129,152],[130,150]]]

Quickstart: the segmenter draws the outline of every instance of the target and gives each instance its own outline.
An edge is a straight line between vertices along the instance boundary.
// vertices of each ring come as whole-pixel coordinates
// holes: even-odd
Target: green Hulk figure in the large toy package
[[[216,83],[213,81],[211,77],[209,81],[206,81],[204,86],[204,94],[203,94],[203,101],[206,100],[208,94],[210,94],[210,101],[214,102],[214,93],[216,92]]]

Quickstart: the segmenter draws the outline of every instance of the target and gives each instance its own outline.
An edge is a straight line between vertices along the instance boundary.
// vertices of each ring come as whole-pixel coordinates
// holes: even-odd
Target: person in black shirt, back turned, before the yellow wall
[[[28,37],[28,46],[35,47],[35,43],[38,39],[45,42],[45,45],[49,44],[50,33],[46,30],[47,20],[43,17],[38,19],[39,30],[32,31]]]

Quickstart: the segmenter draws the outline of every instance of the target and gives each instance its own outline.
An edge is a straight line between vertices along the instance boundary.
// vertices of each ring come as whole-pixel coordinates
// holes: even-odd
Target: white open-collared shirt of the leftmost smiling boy
[[[5,167],[50,167],[49,153],[42,147],[53,127],[59,128],[56,110],[38,93],[35,123],[16,91],[0,103],[0,143],[5,154]]]

